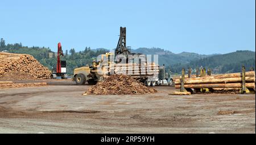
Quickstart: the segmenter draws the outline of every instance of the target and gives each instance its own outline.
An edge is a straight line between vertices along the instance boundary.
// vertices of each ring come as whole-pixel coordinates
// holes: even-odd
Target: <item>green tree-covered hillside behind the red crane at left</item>
[[[57,49],[57,48],[56,48]],[[57,53],[53,52],[49,47],[27,47],[22,43],[6,44],[5,40],[0,40],[0,52],[6,51],[10,53],[23,53],[32,55],[42,65],[48,67],[51,71],[57,64]],[[69,53],[68,53],[69,52]],[[93,59],[96,59],[98,55],[109,52],[106,49],[92,50],[90,47],[85,47],[84,51],[76,52],[75,48],[71,48],[65,51],[61,60],[67,61],[67,73],[70,75],[73,73],[73,69],[83,67],[86,64],[91,64]]]

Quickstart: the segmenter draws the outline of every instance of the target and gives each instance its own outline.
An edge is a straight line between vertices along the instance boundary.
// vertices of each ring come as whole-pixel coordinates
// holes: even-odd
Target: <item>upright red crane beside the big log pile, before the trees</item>
[[[59,42],[58,51],[57,51],[57,68],[56,68],[56,72],[52,73],[52,78],[57,78],[57,77],[68,78],[67,72],[66,72],[66,61],[61,60],[60,56],[64,56],[64,55],[63,55],[61,44]]]

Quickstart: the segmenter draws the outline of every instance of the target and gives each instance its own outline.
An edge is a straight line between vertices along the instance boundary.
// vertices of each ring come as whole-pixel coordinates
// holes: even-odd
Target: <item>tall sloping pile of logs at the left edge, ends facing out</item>
[[[51,78],[51,71],[33,56],[0,52],[0,76],[11,72],[28,73],[35,78]]]

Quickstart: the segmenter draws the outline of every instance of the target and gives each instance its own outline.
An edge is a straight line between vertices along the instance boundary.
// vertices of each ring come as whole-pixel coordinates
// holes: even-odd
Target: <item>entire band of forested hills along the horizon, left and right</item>
[[[52,51],[46,47],[26,47],[22,43],[6,44],[5,40],[1,39],[0,51],[32,55],[51,70],[56,66],[56,49]],[[191,52],[175,54],[161,48],[138,48],[131,51],[146,55],[159,55],[159,64],[165,64],[173,73],[180,73],[182,68],[189,67],[212,68],[214,73],[241,72],[242,65],[245,65],[246,69],[255,68],[255,52],[253,51],[236,51],[224,55],[199,55]],[[74,68],[92,63],[98,55],[106,52],[109,50],[104,48],[91,49],[90,47],[85,47],[83,51],[78,52],[74,48],[65,51],[63,59],[67,60],[68,74],[72,74]]]

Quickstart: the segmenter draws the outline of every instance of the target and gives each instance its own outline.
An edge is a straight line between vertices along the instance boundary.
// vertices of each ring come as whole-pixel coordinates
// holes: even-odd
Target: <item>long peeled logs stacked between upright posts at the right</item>
[[[246,88],[255,90],[255,72],[245,72]],[[180,80],[175,81],[175,88],[180,88]],[[216,74],[213,76],[185,78],[184,88],[222,88],[235,89],[242,88],[242,73]]]

